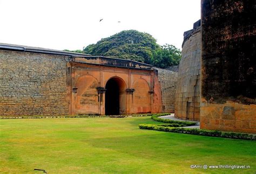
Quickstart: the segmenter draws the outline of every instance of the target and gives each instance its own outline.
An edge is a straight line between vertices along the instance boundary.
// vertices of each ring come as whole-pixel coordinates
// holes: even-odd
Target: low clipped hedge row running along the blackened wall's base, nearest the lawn
[[[141,124],[139,125],[140,129],[150,129],[155,131],[164,131],[164,132],[174,132],[174,133],[184,133],[184,134],[193,134],[193,135],[204,135],[204,136],[215,136],[215,137],[226,137],[231,139],[244,139],[244,140],[256,140],[256,135],[238,133],[238,132],[223,132],[223,131],[213,131],[208,129],[196,129],[196,128],[182,128],[181,126],[174,126],[170,124],[156,125],[156,124]]]

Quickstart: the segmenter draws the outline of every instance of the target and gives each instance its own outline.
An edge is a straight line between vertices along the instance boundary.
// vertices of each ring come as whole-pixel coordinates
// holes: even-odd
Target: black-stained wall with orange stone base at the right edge
[[[200,126],[256,133],[255,1],[201,5]]]

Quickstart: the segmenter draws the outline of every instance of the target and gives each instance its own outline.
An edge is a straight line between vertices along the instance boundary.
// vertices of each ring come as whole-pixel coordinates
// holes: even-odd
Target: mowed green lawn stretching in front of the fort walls
[[[256,142],[139,129],[150,117],[0,120],[0,173],[256,172]],[[250,165],[251,169],[190,169]],[[42,172],[41,172],[42,173]]]

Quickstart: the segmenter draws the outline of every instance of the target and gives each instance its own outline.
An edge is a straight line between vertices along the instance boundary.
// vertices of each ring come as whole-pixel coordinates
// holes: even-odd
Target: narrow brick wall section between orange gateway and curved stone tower
[[[167,69],[156,69],[158,70],[158,78],[161,83],[163,112],[174,112],[178,73]]]

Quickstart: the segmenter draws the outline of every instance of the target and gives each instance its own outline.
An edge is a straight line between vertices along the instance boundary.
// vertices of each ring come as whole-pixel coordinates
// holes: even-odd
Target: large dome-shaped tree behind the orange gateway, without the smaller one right
[[[84,49],[86,54],[118,57],[151,63],[154,50],[159,47],[150,34],[127,30],[104,38]]]

